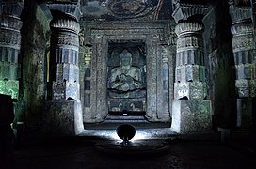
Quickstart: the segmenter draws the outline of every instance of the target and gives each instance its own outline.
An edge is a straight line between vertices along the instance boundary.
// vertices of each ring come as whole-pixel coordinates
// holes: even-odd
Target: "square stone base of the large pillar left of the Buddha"
[[[45,105],[44,130],[55,135],[76,135],[84,130],[81,102],[48,101]]]

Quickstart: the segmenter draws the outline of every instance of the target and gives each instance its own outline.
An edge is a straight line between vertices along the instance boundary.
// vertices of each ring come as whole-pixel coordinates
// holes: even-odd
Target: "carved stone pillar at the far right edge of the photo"
[[[249,6],[230,4],[232,17],[232,51],[235,66],[238,128],[252,125],[253,103],[256,96],[256,56],[253,38],[252,12]]]

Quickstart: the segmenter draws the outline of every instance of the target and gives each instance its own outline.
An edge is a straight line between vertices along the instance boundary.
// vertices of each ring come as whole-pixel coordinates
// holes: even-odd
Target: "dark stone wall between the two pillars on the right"
[[[208,100],[212,101],[213,125],[234,125],[234,61],[232,56],[232,20],[225,1],[212,3],[204,17],[204,53]]]

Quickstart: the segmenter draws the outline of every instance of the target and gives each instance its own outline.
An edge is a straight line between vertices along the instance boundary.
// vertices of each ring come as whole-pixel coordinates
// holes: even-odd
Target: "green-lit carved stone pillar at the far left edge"
[[[21,0],[0,2],[0,93],[18,98],[22,21]]]

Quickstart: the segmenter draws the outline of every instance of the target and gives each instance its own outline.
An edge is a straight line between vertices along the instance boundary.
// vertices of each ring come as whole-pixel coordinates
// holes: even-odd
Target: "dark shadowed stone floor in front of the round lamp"
[[[123,146],[96,137],[28,137],[7,168],[256,168],[254,141],[240,134],[227,143],[176,138]]]

